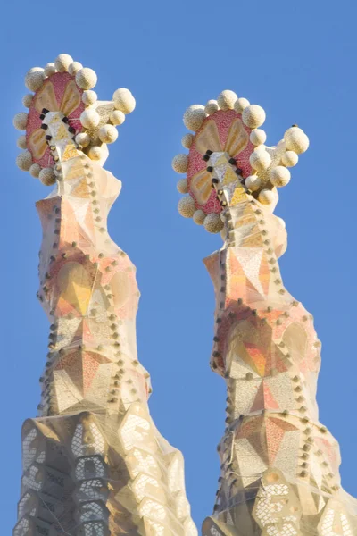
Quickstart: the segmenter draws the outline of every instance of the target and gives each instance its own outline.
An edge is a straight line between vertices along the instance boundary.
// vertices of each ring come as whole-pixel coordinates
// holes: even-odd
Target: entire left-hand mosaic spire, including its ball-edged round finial
[[[19,167],[54,185],[37,202],[43,227],[37,297],[51,322],[39,416],[22,429],[14,536],[192,536],[183,458],[156,430],[150,377],[137,360],[136,268],[110,238],[120,180],[103,169],[129,89],[97,101],[91,69],[60,54],[26,75],[29,113]]]

